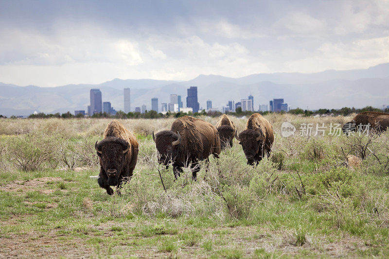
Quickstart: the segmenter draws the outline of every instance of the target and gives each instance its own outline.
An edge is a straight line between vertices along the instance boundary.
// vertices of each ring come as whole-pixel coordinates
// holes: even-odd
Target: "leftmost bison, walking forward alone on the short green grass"
[[[132,176],[138,159],[137,138],[122,123],[112,120],[106,126],[104,139],[96,141],[95,149],[100,161],[98,183],[112,195],[110,186],[116,186],[119,191],[122,182]]]

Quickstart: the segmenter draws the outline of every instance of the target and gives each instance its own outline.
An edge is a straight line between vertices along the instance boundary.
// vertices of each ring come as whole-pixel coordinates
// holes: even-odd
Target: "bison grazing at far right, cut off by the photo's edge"
[[[382,112],[365,111],[355,115],[352,121],[343,125],[343,133],[350,134],[350,132],[357,130],[365,130],[369,125],[370,132],[383,132],[388,128],[389,114]]]

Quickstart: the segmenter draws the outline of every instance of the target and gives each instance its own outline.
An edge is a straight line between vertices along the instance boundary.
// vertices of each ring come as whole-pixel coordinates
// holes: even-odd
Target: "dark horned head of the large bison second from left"
[[[179,133],[170,130],[160,131],[156,135],[153,132],[153,140],[158,151],[160,164],[168,165],[174,162],[178,155],[178,147],[181,141]]]

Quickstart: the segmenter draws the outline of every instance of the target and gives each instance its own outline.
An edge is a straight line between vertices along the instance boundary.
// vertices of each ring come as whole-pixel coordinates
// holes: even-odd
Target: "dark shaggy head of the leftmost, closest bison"
[[[122,138],[108,137],[94,145],[100,164],[108,177],[108,184],[118,184],[120,173],[123,170],[125,155],[130,149],[127,141]]]

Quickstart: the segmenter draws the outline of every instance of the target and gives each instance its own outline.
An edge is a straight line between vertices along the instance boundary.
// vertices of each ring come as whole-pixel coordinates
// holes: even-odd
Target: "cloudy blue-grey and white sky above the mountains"
[[[59,86],[389,62],[389,0],[0,0],[0,82]]]

